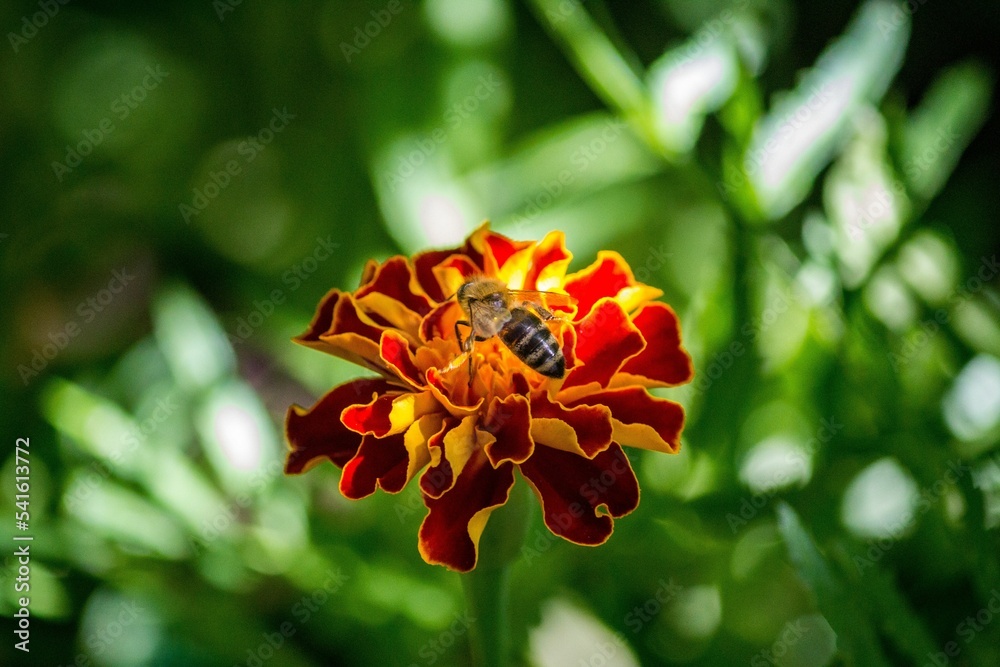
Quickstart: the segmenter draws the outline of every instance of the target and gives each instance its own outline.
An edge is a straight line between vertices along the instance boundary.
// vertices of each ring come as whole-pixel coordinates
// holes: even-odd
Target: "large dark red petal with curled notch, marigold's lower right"
[[[538,447],[521,472],[542,503],[545,525],[577,544],[603,544],[614,529],[612,517],[639,505],[639,483],[618,443],[593,459]]]

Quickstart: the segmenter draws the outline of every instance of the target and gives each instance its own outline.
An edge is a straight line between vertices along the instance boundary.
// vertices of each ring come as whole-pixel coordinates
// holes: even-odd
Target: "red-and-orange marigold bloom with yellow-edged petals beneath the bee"
[[[639,503],[622,445],[680,447],[683,409],[646,388],[688,382],[691,359],[674,311],[654,301],[662,292],[636,282],[618,253],[566,275],[570,259],[560,232],[512,241],[484,224],[460,248],[370,261],[356,291],[331,290],[296,342],[379,376],[336,387],[308,410],[292,406],[286,472],[329,459],[352,499],[398,493],[419,475],[429,510],[420,554],[454,570],[475,567],[515,467],[549,530],[604,543],[613,518]],[[474,276],[572,297],[546,322],[566,358],[563,378],[535,372],[497,336],[475,343],[471,379],[456,363],[463,313],[451,297]]]

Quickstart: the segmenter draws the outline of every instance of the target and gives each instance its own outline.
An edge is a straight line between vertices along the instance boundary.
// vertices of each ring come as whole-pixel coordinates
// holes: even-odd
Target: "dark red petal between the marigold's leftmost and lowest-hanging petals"
[[[441,427],[440,414],[424,415],[406,433],[376,438],[366,435],[354,458],[344,466],[340,492],[352,500],[364,498],[382,488],[399,493],[430,461],[427,441]]]

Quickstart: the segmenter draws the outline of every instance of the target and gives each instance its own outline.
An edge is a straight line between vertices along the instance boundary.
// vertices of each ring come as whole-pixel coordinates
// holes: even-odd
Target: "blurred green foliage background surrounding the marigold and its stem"
[[[281,475],[288,339],[482,219],[680,315],[681,454],[598,549],[534,518],[540,665],[1000,664],[995,3],[7,3],[0,535],[30,655],[467,662],[415,488]],[[961,36],[961,37],[959,37]],[[411,485],[413,487],[414,485]],[[20,594],[4,548],[0,613]],[[991,607],[990,605],[993,605]]]

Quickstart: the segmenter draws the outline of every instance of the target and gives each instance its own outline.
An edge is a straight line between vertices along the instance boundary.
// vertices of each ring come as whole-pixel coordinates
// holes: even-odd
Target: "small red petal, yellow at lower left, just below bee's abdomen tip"
[[[611,434],[611,411],[605,407],[567,408],[544,392],[531,397],[531,437],[537,444],[592,459],[608,448]]]

